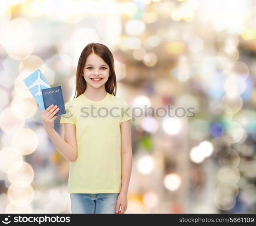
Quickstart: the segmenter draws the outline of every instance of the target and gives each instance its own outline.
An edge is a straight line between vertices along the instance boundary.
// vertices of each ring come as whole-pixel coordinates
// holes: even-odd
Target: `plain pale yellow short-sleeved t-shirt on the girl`
[[[65,104],[60,123],[76,125],[77,160],[70,162],[68,193],[120,193],[121,122],[129,105],[110,93],[100,101],[84,94]]]

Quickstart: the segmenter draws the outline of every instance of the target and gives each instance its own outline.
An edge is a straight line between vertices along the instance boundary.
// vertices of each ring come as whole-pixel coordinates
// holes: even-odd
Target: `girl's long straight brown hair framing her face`
[[[105,89],[108,93],[113,94],[116,96],[116,73],[114,68],[114,57],[109,50],[108,47],[101,43],[95,43],[91,42],[89,43],[83,50],[78,60],[77,65],[77,74],[76,74],[76,93],[75,97],[78,97],[82,93],[84,93],[86,89],[86,81],[84,80],[82,76],[83,68],[85,66],[87,57],[91,54],[95,53],[98,56],[102,58],[103,61],[106,62],[106,64],[110,67],[110,76],[108,77],[108,80],[105,83]]]

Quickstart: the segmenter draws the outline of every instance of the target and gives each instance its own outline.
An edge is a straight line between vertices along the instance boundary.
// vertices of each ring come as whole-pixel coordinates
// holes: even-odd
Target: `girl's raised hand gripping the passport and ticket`
[[[59,111],[59,108],[57,107],[57,105],[54,106],[52,104],[48,108],[46,108],[41,115],[43,127],[46,131],[53,129],[54,127],[54,120],[58,117],[58,115],[54,115]]]

